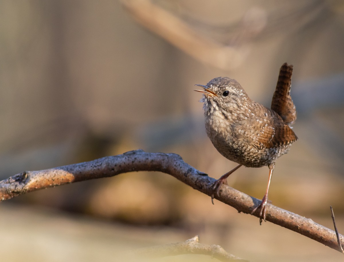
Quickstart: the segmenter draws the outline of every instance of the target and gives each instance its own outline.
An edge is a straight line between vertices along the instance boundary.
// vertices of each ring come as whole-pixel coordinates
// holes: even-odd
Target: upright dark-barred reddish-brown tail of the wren
[[[271,101],[271,109],[279,114],[286,124],[292,124],[296,120],[296,109],[290,96],[292,72],[293,65],[284,63],[281,66],[276,91]]]

